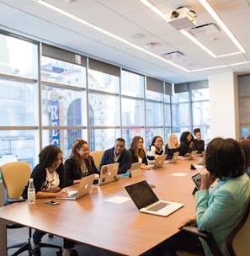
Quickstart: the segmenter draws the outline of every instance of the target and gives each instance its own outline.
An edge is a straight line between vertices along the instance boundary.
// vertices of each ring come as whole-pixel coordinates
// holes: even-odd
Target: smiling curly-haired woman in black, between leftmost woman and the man
[[[89,155],[87,141],[77,139],[72,147],[72,153],[64,164],[66,186],[80,183],[82,177],[98,173],[93,157]]]

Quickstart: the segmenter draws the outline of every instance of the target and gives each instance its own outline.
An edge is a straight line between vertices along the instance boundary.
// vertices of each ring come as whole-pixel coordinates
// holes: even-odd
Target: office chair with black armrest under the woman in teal
[[[250,252],[250,196],[247,199],[242,216],[240,216],[234,227],[231,228],[231,232],[226,238],[226,247],[230,256],[248,255]],[[210,251],[213,255],[223,256],[218,244],[215,241],[212,233],[199,231],[197,227],[186,226],[182,230],[192,233],[198,237],[202,237],[210,247]],[[178,255],[184,255],[184,252],[177,252]],[[186,254],[187,255],[187,254]],[[189,254],[193,255],[193,254]]]

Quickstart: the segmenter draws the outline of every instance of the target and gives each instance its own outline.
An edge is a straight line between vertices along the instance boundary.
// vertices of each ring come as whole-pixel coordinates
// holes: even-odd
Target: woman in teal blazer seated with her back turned
[[[195,193],[196,214],[182,221],[178,228],[191,225],[211,232],[222,254],[228,255],[226,237],[242,215],[250,195],[250,179],[245,173],[242,147],[233,139],[215,138],[210,141],[205,159],[207,170],[201,172],[200,190]],[[219,182],[210,191],[215,179]],[[168,255],[176,255],[178,250],[212,255],[205,241],[183,231],[162,243],[155,254],[168,252]]]

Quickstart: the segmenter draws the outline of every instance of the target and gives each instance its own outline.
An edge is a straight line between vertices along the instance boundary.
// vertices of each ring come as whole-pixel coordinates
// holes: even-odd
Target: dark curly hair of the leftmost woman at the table
[[[56,147],[56,145],[49,145],[43,148],[39,154],[40,165],[45,168],[51,167],[53,163],[57,161],[59,153],[62,153],[62,151],[59,147]]]

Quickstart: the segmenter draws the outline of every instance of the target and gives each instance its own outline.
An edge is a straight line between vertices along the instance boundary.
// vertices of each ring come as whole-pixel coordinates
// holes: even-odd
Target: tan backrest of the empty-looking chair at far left
[[[31,169],[27,162],[5,163],[1,167],[8,199],[19,199],[28,184]]]

